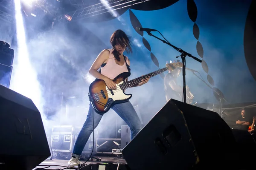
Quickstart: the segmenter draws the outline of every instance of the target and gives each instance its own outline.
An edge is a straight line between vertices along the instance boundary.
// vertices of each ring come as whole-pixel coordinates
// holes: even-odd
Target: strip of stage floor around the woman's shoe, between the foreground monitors
[[[121,158],[116,158],[116,157],[101,157],[101,156],[95,156],[95,158],[99,158],[101,159],[101,161],[96,161],[96,159],[93,159],[93,160],[90,160],[90,161],[87,161],[85,165],[92,165],[92,164],[96,164],[96,165],[101,165],[101,164],[104,164],[104,165],[107,165],[107,163],[109,163],[109,165],[112,165],[113,168],[110,168],[110,169],[114,169],[116,170],[117,168],[117,165],[118,163],[120,163],[120,168],[123,170],[123,169],[126,169],[126,168],[122,168],[124,166],[127,166],[126,164],[126,161],[124,159],[121,159]],[[69,160],[63,160],[63,159],[52,159],[52,160],[45,160],[43,161],[41,164],[39,164],[40,166],[37,166],[36,168],[44,168],[44,167],[47,167],[47,166],[51,166],[51,167],[47,167],[47,169],[64,169],[65,167],[67,167],[67,162]],[[86,160],[80,160],[81,161],[81,164],[83,164]],[[121,166],[122,165],[122,166]],[[88,168],[87,168],[88,167]],[[81,170],[87,170],[87,169],[90,169],[90,170],[93,170],[93,169],[99,169],[99,167],[83,167],[81,168]],[[36,170],[35,168],[35,170]]]

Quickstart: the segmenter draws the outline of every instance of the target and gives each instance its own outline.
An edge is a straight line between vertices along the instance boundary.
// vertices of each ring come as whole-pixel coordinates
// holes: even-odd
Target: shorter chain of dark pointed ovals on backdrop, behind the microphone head
[[[134,13],[131,11],[131,9],[129,9],[129,14],[130,14],[131,25],[133,26],[133,28],[136,30],[136,27],[142,27],[140,21],[139,21],[138,18],[134,15]],[[153,61],[154,64],[158,67],[158,69],[160,69],[160,68],[159,68],[159,62],[158,62],[157,57],[155,57],[155,55],[151,52],[151,46],[150,46],[150,44],[149,44],[148,41],[143,37],[143,31],[137,31],[137,30],[136,30],[136,32],[137,32],[138,34],[140,34],[140,36],[142,36],[142,42],[143,42],[145,48],[147,48],[148,51],[150,51],[150,57],[151,57],[152,61]],[[159,74],[159,75],[160,75],[160,77],[162,77],[162,79],[164,79],[164,74],[163,74],[163,73],[161,73],[161,74]]]

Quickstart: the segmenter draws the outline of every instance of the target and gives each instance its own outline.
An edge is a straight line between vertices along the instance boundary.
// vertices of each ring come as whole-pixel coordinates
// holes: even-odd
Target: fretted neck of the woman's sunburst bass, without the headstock
[[[140,82],[143,82],[143,79],[145,79],[145,78],[154,77],[154,76],[156,76],[158,74],[161,74],[161,73],[163,73],[164,71],[167,71],[167,70],[168,69],[166,67],[162,68],[160,70],[154,71],[152,73],[146,74],[146,75],[138,77],[136,79],[132,79],[132,80],[130,80],[128,82],[124,82],[124,83],[120,84],[120,87],[122,88],[122,90],[124,90],[126,88],[130,88],[130,87],[132,87],[134,85],[139,84]]]

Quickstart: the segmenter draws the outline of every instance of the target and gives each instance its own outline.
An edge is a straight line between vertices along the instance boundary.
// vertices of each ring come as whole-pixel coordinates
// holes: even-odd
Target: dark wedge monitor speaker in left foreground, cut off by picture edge
[[[0,85],[0,170],[32,170],[51,153],[31,99]]]

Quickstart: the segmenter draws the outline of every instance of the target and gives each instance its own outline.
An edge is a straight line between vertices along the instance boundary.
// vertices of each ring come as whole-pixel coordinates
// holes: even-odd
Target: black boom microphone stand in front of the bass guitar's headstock
[[[151,31],[146,31],[148,33],[148,35],[152,36],[152,37],[155,37],[157,38],[158,40],[162,41],[163,43],[171,46],[172,48],[174,48],[175,50],[179,51],[181,53],[180,56],[177,56],[176,58],[178,57],[181,57],[182,59],[182,76],[183,76],[183,102],[186,103],[186,56],[189,56],[193,59],[195,59],[196,61],[198,62],[202,62],[201,59],[198,59],[194,56],[192,56],[191,54],[187,53],[186,51],[183,51],[182,49],[180,48],[177,48],[175,47],[174,45],[172,45],[171,43],[169,42],[166,42],[165,40],[162,40],[156,36],[154,36],[153,34],[151,34]]]

